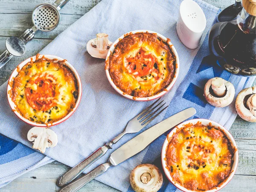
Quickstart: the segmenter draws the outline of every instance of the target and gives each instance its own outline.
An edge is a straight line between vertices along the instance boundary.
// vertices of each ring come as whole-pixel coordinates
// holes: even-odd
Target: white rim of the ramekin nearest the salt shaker
[[[164,37],[163,35],[155,32],[155,31],[149,31],[149,30],[136,30],[136,31],[131,31],[131,32],[128,32],[126,34],[135,34],[135,33],[140,33],[140,32],[143,32],[143,33],[154,33],[154,34],[157,34],[158,37],[160,37],[164,42],[167,41],[167,38]],[[111,47],[109,48],[108,50],[108,54],[107,54],[107,57],[106,57],[106,62],[109,60],[109,56],[111,53],[113,53],[114,49],[115,49],[115,45],[116,43],[118,43],[120,40],[122,40],[126,34],[123,34],[121,37],[119,37],[115,42],[113,42],[113,44],[111,45]],[[154,96],[150,96],[150,97],[134,97],[134,96],[131,96],[131,95],[128,95],[126,93],[124,93],[122,90],[120,90],[115,84],[114,82],[112,81],[111,79],[111,76],[109,74],[109,69],[106,68],[106,75],[107,75],[107,78],[108,78],[108,81],[110,82],[111,86],[119,93],[121,94],[122,96],[128,98],[128,99],[131,99],[131,100],[134,100],[134,101],[150,101],[150,100],[153,100],[153,99],[157,99],[161,96],[163,96],[165,93],[167,93],[169,90],[172,89],[173,85],[175,84],[176,80],[177,80],[177,77],[178,77],[178,74],[179,74],[179,70],[180,70],[180,60],[179,60],[179,56],[177,54],[177,51],[174,47],[174,45],[172,44],[172,42],[170,41],[168,43],[169,46],[171,46],[172,48],[172,52],[175,54],[176,56],[176,66],[177,68],[175,69],[175,74],[174,74],[174,78],[172,79],[172,82],[168,85],[168,87],[166,88],[166,90],[163,90],[161,91],[160,93],[158,93],[157,95],[154,95]]]

